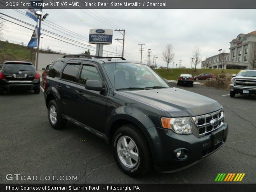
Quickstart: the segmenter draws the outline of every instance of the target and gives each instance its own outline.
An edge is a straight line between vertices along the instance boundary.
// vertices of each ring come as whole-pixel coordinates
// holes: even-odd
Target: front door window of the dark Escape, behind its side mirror
[[[102,79],[100,78],[96,67],[91,65],[83,65],[82,72],[79,78],[79,83],[85,85],[87,80],[98,80],[102,83]]]

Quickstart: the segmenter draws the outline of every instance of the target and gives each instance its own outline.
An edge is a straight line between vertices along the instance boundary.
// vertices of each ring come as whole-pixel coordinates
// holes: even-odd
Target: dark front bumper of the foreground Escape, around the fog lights
[[[150,136],[150,148],[156,170],[160,172],[176,172],[192,166],[206,156],[218,150],[226,142],[228,124],[224,124],[210,134],[197,138],[193,134],[181,135],[163,128],[148,128],[145,130]],[[212,135],[223,133],[222,141],[214,146]],[[188,158],[178,160],[174,150],[184,148],[188,150]]]

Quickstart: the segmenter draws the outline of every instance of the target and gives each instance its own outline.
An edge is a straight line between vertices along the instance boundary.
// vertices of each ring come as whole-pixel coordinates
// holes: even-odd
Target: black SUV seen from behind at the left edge
[[[0,94],[4,90],[28,89],[40,93],[40,75],[31,62],[5,61],[0,70]]]

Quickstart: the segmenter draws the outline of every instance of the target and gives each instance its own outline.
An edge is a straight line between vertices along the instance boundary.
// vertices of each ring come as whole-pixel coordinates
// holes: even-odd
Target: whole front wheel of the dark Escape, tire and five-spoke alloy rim
[[[126,140],[126,148],[123,144],[124,140]],[[135,146],[129,150],[128,146],[132,144]],[[112,139],[112,150],[119,168],[131,177],[143,176],[152,168],[151,154],[146,138],[137,127],[131,124],[121,126],[116,130]],[[130,157],[131,154],[135,158]],[[138,158],[134,154],[137,154]],[[129,157],[130,161],[126,162]]]

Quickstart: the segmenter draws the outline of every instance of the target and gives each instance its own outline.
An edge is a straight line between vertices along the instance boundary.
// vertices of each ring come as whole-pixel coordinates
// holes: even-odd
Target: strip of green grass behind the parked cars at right
[[[237,74],[240,69],[224,69],[224,73],[226,74]],[[156,69],[156,72],[162,76],[162,78],[166,78],[167,80],[177,80],[180,74],[192,74],[192,76],[197,76],[201,73],[211,73],[214,75],[222,74],[221,69],[172,69],[170,68],[168,71],[166,69]]]

